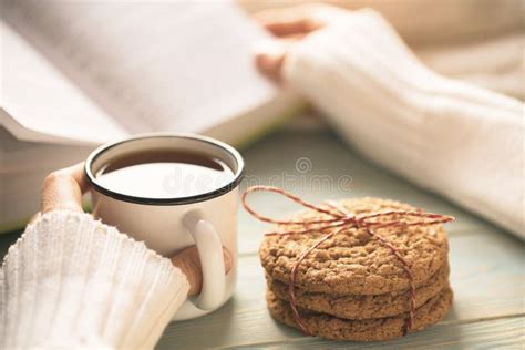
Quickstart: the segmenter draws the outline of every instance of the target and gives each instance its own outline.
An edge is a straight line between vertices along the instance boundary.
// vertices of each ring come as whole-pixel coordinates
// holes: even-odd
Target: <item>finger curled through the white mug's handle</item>
[[[231,270],[234,259],[226,248],[223,248],[223,257],[226,268],[225,274],[228,274],[229,270]],[[178,253],[172,258],[172,264],[186,275],[189,282],[188,296],[199,294],[203,288],[203,269],[200,267],[197,247],[193,246]]]

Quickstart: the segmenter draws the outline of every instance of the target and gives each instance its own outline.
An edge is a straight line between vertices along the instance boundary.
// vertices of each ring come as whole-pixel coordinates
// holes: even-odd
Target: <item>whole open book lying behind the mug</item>
[[[233,2],[1,1],[0,231],[38,209],[45,173],[134,133],[239,145],[301,102],[260,76],[268,39]]]

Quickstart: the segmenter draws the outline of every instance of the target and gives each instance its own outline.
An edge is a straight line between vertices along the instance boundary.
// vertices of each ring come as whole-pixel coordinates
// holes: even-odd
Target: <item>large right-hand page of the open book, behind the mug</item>
[[[132,133],[204,132],[267,103],[268,34],[231,2],[31,1],[8,21]]]

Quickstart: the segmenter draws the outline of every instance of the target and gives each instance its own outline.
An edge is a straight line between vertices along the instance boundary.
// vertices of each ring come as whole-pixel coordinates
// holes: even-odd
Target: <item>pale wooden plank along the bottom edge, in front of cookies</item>
[[[281,342],[226,347],[224,349],[523,349],[525,318],[443,323],[424,332],[382,342],[343,342],[300,338]]]

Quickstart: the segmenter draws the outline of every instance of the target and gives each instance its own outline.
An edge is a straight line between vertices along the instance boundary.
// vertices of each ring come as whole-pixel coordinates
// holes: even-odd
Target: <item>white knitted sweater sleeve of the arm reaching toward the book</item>
[[[371,10],[308,35],[284,70],[368,157],[525,237],[523,103],[426,69]]]

